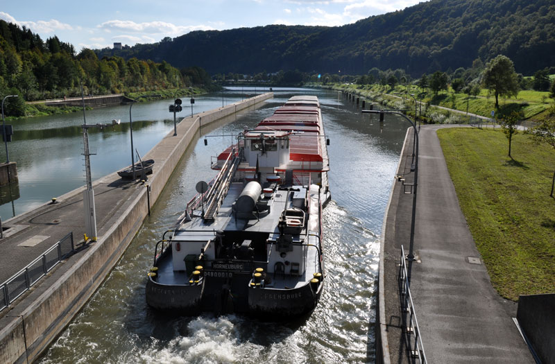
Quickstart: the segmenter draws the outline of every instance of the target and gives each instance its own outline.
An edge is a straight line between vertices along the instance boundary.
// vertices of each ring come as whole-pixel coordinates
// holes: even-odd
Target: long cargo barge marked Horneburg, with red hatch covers
[[[316,96],[293,96],[212,161],[176,227],[155,245],[153,309],[179,315],[305,315],[323,291],[329,159]]]

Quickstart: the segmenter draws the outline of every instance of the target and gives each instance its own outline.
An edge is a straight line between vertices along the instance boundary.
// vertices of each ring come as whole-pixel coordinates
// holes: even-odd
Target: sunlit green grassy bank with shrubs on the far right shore
[[[411,116],[415,115],[415,101],[418,101],[418,103],[422,102],[422,110],[418,106],[417,113],[419,116],[422,116],[422,121],[428,123],[437,123],[438,121],[443,123],[468,121],[468,117],[464,114],[454,114],[448,110],[439,110],[432,107],[433,105],[459,110],[465,114],[468,112],[486,117],[491,117],[492,111],[496,115],[518,112],[521,120],[532,122],[540,122],[555,116],[555,104],[552,99],[554,93],[531,89],[533,78],[521,82],[521,88],[515,92],[515,96],[499,97],[499,105],[495,107],[495,96],[493,92],[490,92],[490,89],[481,85],[480,74],[474,80],[469,80],[468,83],[462,83],[462,86],[459,86],[456,85],[457,82],[454,77],[456,75],[447,75],[445,73],[447,79],[445,85],[441,85],[440,89],[434,89],[429,87],[427,81],[422,83],[423,78],[428,78],[426,75],[422,75],[420,79],[412,80],[411,82],[405,81],[400,83],[395,76],[393,76],[395,77],[395,80],[393,80],[391,76],[383,75],[402,74],[402,70],[379,71],[379,73],[382,74],[382,77],[379,77],[377,82],[373,81],[376,78],[359,76],[353,78],[352,82],[312,82],[307,83],[307,86],[338,89],[357,94],[373,102],[384,103],[388,107],[397,106],[398,108],[404,108],[407,110],[407,114]],[[393,82],[388,84],[387,79],[393,80]],[[405,79],[403,78],[403,80]],[[555,81],[552,82],[552,85],[555,85]],[[402,104],[398,104],[400,98],[403,100]]]

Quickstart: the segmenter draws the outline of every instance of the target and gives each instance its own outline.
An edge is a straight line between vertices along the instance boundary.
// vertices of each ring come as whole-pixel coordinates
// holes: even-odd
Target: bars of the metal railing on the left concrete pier
[[[64,243],[67,239],[71,240],[71,250],[69,250],[69,252],[66,252],[65,254],[62,254],[62,243]],[[54,250],[56,250],[57,252],[56,261],[47,261],[46,257]],[[28,291],[31,286],[33,286],[33,284],[37,283],[37,281],[39,281],[40,278],[44,277],[46,273],[50,272],[56,265],[58,265],[58,263],[60,263],[60,261],[69,257],[69,255],[73,254],[75,251],[76,249],[74,246],[74,234],[73,232],[70,232],[62,239],[60,239],[60,241],[47,249],[42,255],[40,255],[40,257],[37,257],[37,259],[31,261],[31,263],[29,263],[25,268],[19,270],[19,272],[15,273],[15,275],[12,275],[12,277],[0,284],[0,298],[3,297],[3,300],[0,300],[0,311],[10,306],[12,302],[17,300],[19,296]],[[40,274],[33,275],[33,272],[31,272],[31,270],[33,270],[33,268],[34,270],[38,270],[37,263],[39,262],[41,263],[40,268],[42,268],[42,270],[40,270]],[[11,297],[10,284],[14,283],[15,281],[21,281],[21,283],[17,286],[15,295]],[[25,284],[24,288],[22,287],[23,283]]]

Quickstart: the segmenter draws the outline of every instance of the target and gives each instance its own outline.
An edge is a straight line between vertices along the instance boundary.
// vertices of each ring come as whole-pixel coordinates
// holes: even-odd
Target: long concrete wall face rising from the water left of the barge
[[[173,137],[172,130],[147,153],[147,156],[157,155],[157,160],[162,160],[160,165],[155,164],[155,173],[149,181],[151,205],[162,193],[189,143],[198,135],[199,124],[207,125],[236,111],[253,107],[272,96],[271,93],[259,95],[211,112],[194,115],[194,120],[189,120],[198,120],[194,123],[186,122],[190,117],[183,119],[181,123],[190,126],[185,132],[185,128],[180,130],[182,135],[177,143],[175,139],[169,143],[169,138]],[[114,178],[115,173],[100,180]],[[100,180],[95,181],[95,184]],[[71,191],[64,197],[73,196],[83,189],[82,187]],[[71,257],[70,260],[77,261],[70,268],[53,270],[52,275],[44,278],[22,302],[17,302],[8,315],[0,319],[0,363],[29,363],[46,349],[99,288],[133,240],[147,214],[146,189],[139,189],[126,211],[112,217],[107,229],[102,228],[99,240]]]

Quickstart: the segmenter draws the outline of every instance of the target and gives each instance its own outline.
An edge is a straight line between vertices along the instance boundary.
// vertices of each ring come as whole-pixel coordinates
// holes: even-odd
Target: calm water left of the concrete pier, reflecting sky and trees
[[[241,99],[234,92],[196,96],[194,112],[212,110]],[[173,128],[173,113],[168,105],[173,100],[151,101],[133,106],[133,144],[139,155],[145,155]],[[121,125],[104,130],[89,129],[92,179],[118,171],[131,164],[129,105],[87,110],[88,124]],[[189,109],[178,114],[181,119]],[[8,143],[10,160],[17,162],[19,195],[14,205],[1,205],[0,217],[6,220],[23,214],[53,197],[61,196],[85,184],[83,160],[83,114],[75,112],[55,116],[21,119],[13,122],[14,135]],[[0,157],[4,154],[0,151]]]

